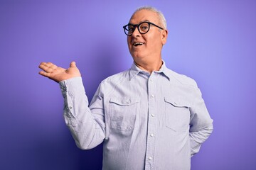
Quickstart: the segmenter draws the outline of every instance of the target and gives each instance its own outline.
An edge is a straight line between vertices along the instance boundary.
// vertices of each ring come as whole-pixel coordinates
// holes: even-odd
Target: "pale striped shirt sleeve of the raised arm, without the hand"
[[[89,108],[85,88],[81,77],[60,81],[64,98],[64,119],[70,129],[76,145],[80,149],[92,149],[105,139],[104,106],[99,90],[93,103],[95,113]],[[97,97],[96,97],[97,96]]]

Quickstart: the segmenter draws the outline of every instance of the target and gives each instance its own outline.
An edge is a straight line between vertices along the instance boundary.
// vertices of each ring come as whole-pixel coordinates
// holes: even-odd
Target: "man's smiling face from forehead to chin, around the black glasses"
[[[149,21],[163,28],[163,26],[159,23],[157,13],[149,10],[137,11],[137,13],[134,13],[129,23],[139,24],[143,21]],[[159,60],[161,59],[161,49],[166,43],[166,38],[167,30],[160,30],[156,26],[151,25],[149,32],[146,34],[139,33],[139,30],[136,28],[131,36],[127,36],[129,52],[131,53],[135,62],[139,62],[140,60]]]

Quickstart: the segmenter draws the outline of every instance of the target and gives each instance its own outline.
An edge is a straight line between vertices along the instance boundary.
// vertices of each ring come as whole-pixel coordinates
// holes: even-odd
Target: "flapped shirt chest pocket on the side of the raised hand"
[[[111,98],[111,128],[117,130],[133,130],[139,107],[139,98]]]

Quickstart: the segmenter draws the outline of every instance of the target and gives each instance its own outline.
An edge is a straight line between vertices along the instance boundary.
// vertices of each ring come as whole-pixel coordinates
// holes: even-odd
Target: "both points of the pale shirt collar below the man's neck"
[[[170,80],[171,74],[169,72],[169,69],[166,67],[164,60],[162,60],[162,61],[163,61],[163,64],[161,65],[161,68],[159,69],[159,71],[154,71],[154,72],[164,74],[164,76]],[[137,65],[133,62],[132,67],[129,70],[130,80],[132,80],[134,77],[136,77],[137,74],[139,74],[139,72],[145,72],[145,71],[142,69],[139,69],[139,67],[137,67]]]

